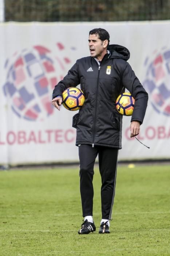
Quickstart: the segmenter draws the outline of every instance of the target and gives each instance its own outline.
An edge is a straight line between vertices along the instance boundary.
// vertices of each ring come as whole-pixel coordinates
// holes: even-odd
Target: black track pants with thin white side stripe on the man
[[[99,171],[102,178],[101,201],[102,219],[111,219],[115,196],[118,149],[90,145],[79,146],[80,194],[83,217],[93,215],[93,175],[94,163],[98,155]]]

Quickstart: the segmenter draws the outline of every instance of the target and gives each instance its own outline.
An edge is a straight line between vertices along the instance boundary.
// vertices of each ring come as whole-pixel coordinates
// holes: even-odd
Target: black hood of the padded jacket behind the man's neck
[[[119,58],[123,60],[129,60],[130,52],[129,50],[121,45],[109,45],[107,50],[111,52],[111,58]]]

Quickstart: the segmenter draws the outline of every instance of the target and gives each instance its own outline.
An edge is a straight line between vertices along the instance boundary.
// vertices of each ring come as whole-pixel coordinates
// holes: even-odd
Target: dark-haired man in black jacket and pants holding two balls
[[[52,104],[60,110],[62,93],[72,86],[80,87],[85,102],[73,117],[76,146],[79,147],[80,194],[84,222],[79,234],[96,230],[93,218],[93,175],[98,155],[102,178],[102,220],[99,233],[110,233],[109,226],[114,203],[118,150],[122,148],[122,116],[115,107],[116,98],[129,90],[135,98],[131,117],[131,137],[139,134],[145,116],[148,95],[126,61],[130,52],[120,45],[109,45],[109,34],[104,29],[89,33],[90,56],[76,61],[68,74],[53,91]]]

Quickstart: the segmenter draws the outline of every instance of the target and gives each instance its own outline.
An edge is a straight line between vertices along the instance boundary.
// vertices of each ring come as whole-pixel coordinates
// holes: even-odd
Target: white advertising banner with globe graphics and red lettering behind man
[[[52,91],[77,59],[89,56],[88,33],[102,27],[149,94],[137,138],[123,117],[120,160],[170,159],[170,21],[0,24],[0,165],[78,162],[76,112],[56,110]]]

